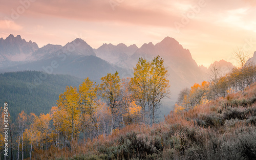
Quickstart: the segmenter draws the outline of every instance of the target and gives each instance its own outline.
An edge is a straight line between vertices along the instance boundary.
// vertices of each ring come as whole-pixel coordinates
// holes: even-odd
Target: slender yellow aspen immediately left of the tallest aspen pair
[[[118,72],[115,74],[109,73],[101,78],[100,95],[106,101],[111,110],[111,134],[115,125],[115,112],[120,95],[120,78]]]

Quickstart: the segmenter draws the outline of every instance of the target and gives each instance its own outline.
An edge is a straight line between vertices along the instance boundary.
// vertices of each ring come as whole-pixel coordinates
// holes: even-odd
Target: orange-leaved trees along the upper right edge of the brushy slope
[[[213,64],[210,69],[210,80],[201,84],[195,83],[191,88],[181,90],[175,106],[175,111],[189,110],[197,105],[226,97],[228,94],[244,94],[244,88],[256,82],[256,65],[248,60],[248,54],[239,49],[233,53],[237,58],[238,66],[222,75],[220,67]]]

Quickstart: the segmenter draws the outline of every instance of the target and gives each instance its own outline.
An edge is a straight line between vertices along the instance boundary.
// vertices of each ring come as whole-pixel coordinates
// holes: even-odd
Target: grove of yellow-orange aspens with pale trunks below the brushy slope
[[[9,123],[9,159],[31,159],[36,150],[53,146],[69,148],[73,140],[85,144],[134,123],[154,125],[162,99],[170,94],[167,76],[157,56],[152,61],[139,58],[132,78],[120,79],[116,72],[102,77],[100,84],[87,78],[78,87],[67,86],[49,113],[22,111],[15,124]]]

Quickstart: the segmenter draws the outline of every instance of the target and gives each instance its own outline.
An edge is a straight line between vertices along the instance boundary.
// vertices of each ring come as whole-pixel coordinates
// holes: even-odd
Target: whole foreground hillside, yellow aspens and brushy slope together
[[[238,56],[244,56],[238,54]],[[195,83],[158,123],[169,96],[159,56],[139,58],[132,78],[107,74],[67,86],[49,113],[24,111],[10,127],[17,159],[253,159],[256,156],[256,65]],[[3,128],[2,128],[3,129]],[[0,133],[1,135],[1,133]],[[0,136],[1,137],[1,136]],[[3,142],[2,142],[3,145]]]

